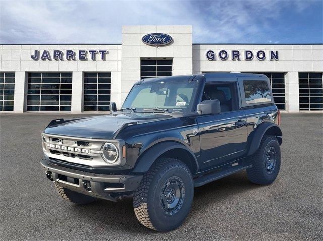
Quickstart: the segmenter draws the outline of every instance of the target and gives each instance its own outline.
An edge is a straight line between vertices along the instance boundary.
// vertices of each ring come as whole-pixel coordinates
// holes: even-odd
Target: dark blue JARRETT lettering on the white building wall
[[[105,56],[107,53],[107,50],[66,50],[64,52],[61,50],[43,50],[42,52],[40,52],[39,50],[35,50],[34,55],[31,55],[30,57],[33,60],[63,60],[64,57],[67,60],[76,60],[76,58],[78,58],[79,60],[87,60],[88,58],[95,60],[96,56],[99,55],[102,60],[105,60]]]

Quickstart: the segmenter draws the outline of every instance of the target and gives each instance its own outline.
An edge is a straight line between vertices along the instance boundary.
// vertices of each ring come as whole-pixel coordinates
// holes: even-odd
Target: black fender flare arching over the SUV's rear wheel
[[[281,128],[272,122],[261,123],[255,128],[254,133],[251,136],[252,140],[251,142],[249,142],[250,148],[247,154],[248,156],[254,154],[257,151],[260,146],[261,139],[267,131],[270,131],[272,135],[276,136],[278,138],[279,144],[282,144],[283,134]]]

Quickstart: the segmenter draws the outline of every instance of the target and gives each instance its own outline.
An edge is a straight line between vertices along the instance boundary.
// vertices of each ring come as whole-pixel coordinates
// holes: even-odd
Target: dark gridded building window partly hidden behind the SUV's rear
[[[285,73],[248,73],[258,73],[266,75],[271,83],[275,105],[279,110],[285,110]]]

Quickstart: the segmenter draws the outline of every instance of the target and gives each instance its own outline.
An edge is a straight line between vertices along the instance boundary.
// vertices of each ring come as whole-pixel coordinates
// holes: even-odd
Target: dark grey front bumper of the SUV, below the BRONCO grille
[[[61,167],[43,159],[46,176],[58,185],[85,195],[116,201],[118,193],[132,192],[143,175],[107,175]]]

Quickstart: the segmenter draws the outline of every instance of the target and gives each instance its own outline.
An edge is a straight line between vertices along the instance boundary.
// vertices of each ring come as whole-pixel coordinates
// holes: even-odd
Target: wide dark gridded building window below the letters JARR
[[[27,111],[71,111],[72,73],[28,74]]]

